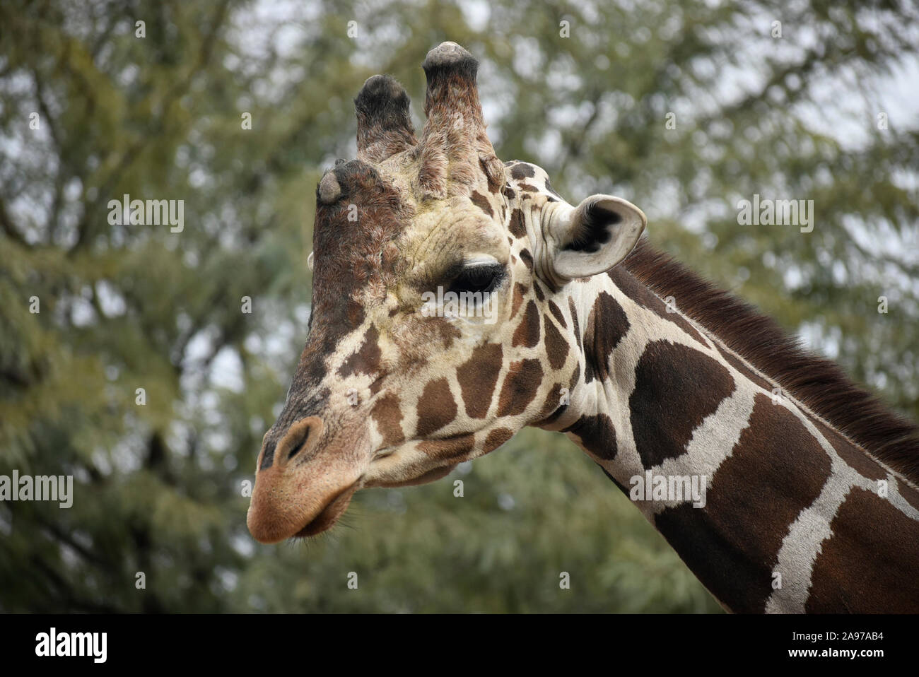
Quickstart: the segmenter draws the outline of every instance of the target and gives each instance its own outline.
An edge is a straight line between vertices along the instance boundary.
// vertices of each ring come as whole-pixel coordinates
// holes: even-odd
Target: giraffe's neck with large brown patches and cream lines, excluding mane
[[[580,377],[540,425],[570,434],[720,604],[919,611],[912,482],[622,267],[568,288]]]

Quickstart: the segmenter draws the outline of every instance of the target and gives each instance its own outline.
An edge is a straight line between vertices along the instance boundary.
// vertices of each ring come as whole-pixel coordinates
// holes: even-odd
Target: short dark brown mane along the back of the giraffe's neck
[[[655,249],[647,238],[641,238],[622,265],[659,296],[678,299],[686,315],[838,432],[919,483],[919,426],[888,411],[841,367],[805,350],[777,322]]]

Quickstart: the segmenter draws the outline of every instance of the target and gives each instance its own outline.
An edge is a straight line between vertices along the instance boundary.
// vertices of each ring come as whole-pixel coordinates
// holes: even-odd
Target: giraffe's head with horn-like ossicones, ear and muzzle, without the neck
[[[437,480],[557,416],[581,372],[566,289],[628,254],[641,210],[572,206],[485,134],[478,63],[428,52],[425,128],[375,75],[355,100],[357,160],[316,190],[312,315],[256,462],[262,542],[335,524],[355,491]]]

